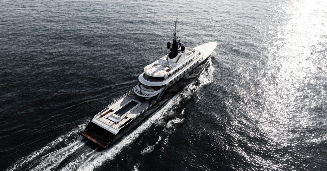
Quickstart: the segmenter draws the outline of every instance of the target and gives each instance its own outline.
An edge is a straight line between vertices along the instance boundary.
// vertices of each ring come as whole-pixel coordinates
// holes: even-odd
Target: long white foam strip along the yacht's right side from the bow
[[[152,116],[146,119],[139,127],[132,131],[129,135],[124,136],[120,142],[113,145],[111,148],[103,150],[101,152],[90,152],[89,155],[80,156],[72,163],[67,164],[62,170],[78,170],[78,171],[90,171],[94,170],[96,167],[101,166],[108,160],[114,159],[114,157],[122,152],[127,146],[129,146],[139,135],[146,131],[155,121],[162,118],[167,110],[170,109],[174,104],[181,101],[185,98],[185,95],[188,96],[196,91],[199,87],[203,85],[208,85],[213,81],[213,72],[214,67],[212,66],[212,61],[209,59],[209,67],[207,70],[203,70],[198,78],[200,82],[199,86],[196,86],[194,83],[191,83],[184,88],[183,91],[175,95],[170,99],[161,109],[155,112]],[[182,93],[182,94],[181,94]],[[86,159],[84,162],[81,162],[83,159]]]

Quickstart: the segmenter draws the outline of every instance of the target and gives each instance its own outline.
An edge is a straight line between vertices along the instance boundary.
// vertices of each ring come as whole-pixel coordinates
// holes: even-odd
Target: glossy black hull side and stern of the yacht
[[[209,58],[209,57],[208,57]],[[112,143],[119,140],[121,137],[132,131],[135,127],[141,124],[147,117],[156,112],[159,108],[161,108],[167,101],[169,101],[172,97],[174,97],[177,93],[179,93],[186,85],[190,84],[192,81],[198,78],[199,74],[204,70],[204,68],[208,64],[208,58],[202,61],[198,66],[196,66],[193,70],[189,70],[184,73],[179,79],[176,79],[170,85],[168,85],[160,98],[156,101],[152,102],[152,105],[149,108],[141,113],[138,117],[130,121],[128,125],[123,127],[117,135],[108,132],[93,122],[90,123],[85,128],[82,135],[92,142],[98,144],[102,148],[108,148]],[[93,117],[92,117],[93,118]],[[92,119],[91,119],[92,120]]]

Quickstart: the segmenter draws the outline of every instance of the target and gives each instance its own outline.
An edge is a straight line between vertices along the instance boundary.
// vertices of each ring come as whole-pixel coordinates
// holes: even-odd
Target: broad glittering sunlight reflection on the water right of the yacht
[[[240,68],[238,72],[242,80],[235,85],[235,95],[243,101],[237,104],[232,99],[225,101],[227,106],[234,105],[235,109],[228,110],[231,114],[244,113],[250,117],[250,121],[235,118],[234,128],[231,128],[235,151],[247,160],[267,168],[286,167],[262,159],[256,153],[245,152],[240,142],[255,151],[274,151],[276,147],[326,140],[326,136],[311,131],[316,128],[315,124],[320,124],[315,108],[324,105],[327,99],[324,89],[327,85],[326,7],[325,0],[287,1],[279,5],[271,21],[264,23],[267,25],[256,27],[263,30],[265,37],[262,45],[265,51],[261,57],[264,62],[256,61]],[[259,73],[253,68],[259,68]],[[251,124],[272,145],[263,147],[253,143],[253,138],[260,136],[259,133],[252,136],[255,130],[242,127]],[[240,130],[245,131],[246,136],[240,137]],[[260,140],[265,137],[260,137]],[[283,156],[280,161],[290,157]]]

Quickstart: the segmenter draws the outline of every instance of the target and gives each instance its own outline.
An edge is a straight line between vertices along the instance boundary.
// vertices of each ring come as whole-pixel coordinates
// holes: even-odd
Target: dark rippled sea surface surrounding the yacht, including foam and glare
[[[327,170],[327,1],[0,1],[0,169]],[[91,117],[168,53],[210,65],[111,148]]]

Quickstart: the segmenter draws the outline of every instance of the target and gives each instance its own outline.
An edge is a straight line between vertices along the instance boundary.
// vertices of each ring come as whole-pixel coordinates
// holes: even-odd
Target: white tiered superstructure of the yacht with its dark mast
[[[207,56],[200,51],[202,48],[189,48],[177,42],[177,21],[172,43],[167,43],[170,53],[147,65],[144,72],[139,75],[140,84],[134,87],[134,92],[141,97],[154,97],[163,91],[163,86],[168,86],[178,79],[183,73],[192,69],[197,63],[203,61]],[[210,42],[207,46],[215,46],[216,42]]]

